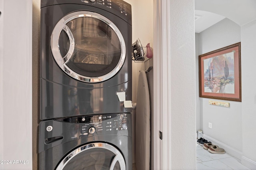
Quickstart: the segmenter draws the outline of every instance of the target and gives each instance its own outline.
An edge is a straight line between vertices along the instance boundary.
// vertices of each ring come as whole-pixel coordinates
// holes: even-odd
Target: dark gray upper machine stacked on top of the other
[[[122,0],[41,0],[40,119],[130,113],[131,39]]]

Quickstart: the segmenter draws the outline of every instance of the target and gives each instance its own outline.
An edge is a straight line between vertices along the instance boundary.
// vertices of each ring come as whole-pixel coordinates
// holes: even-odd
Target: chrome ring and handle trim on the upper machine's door
[[[110,71],[109,73],[102,75],[100,77],[88,77],[88,76],[80,75],[80,74],[74,72],[72,69],[70,69],[66,65],[66,63],[70,59],[71,55],[74,53],[74,45],[75,45],[75,40],[72,35],[72,32],[70,31],[68,26],[66,26],[66,24],[69,21],[71,21],[75,18],[79,18],[79,17],[91,17],[91,18],[96,18],[98,20],[101,20],[102,22],[105,22],[108,26],[110,26],[110,28],[112,28],[112,30],[114,30],[114,32],[116,33],[116,35],[119,39],[119,42],[121,45],[121,56],[118,61],[118,64],[112,71]],[[70,41],[70,47],[69,47],[68,53],[65,55],[65,57],[61,56],[60,50],[59,50],[59,44],[58,44],[60,33],[62,30],[64,30],[66,32],[66,34],[68,35],[69,41]],[[65,73],[70,75],[71,77],[74,77],[75,79],[78,79],[80,81],[84,81],[87,83],[97,83],[97,82],[101,82],[101,81],[110,79],[121,69],[121,67],[124,63],[124,59],[126,57],[126,46],[125,46],[124,38],[123,38],[120,30],[116,27],[116,25],[113,22],[111,22],[108,18],[102,16],[101,14],[98,14],[95,12],[89,12],[89,11],[78,11],[78,12],[73,12],[71,14],[64,16],[56,24],[56,26],[54,27],[54,29],[52,31],[50,45],[51,45],[51,49],[52,49],[52,55],[53,55],[56,63],[59,65],[59,67]]]

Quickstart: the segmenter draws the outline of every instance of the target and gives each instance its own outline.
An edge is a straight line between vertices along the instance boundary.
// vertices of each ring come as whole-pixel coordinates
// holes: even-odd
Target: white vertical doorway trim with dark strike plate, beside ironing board
[[[154,169],[171,168],[170,135],[170,0],[153,1],[154,32]],[[166,56],[166,57],[165,57]],[[162,140],[159,133],[162,132]]]

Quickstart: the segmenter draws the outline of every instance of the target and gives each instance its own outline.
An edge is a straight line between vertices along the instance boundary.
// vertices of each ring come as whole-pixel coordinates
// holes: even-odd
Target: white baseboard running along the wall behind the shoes
[[[220,148],[223,148],[226,151],[226,153],[238,158],[239,160],[242,160],[243,153],[240,152],[239,150],[236,150],[236,149],[234,149],[218,140],[215,140],[214,138],[211,138],[210,136],[207,136],[205,134],[203,134],[203,138],[205,138],[208,141],[211,141],[215,145],[218,145]]]

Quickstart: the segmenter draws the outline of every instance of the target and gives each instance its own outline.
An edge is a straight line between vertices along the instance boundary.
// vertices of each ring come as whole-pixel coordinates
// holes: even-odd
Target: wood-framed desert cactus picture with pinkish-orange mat
[[[198,57],[199,97],[241,102],[241,42]]]

